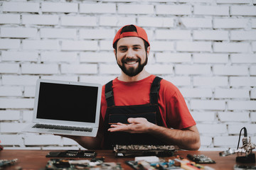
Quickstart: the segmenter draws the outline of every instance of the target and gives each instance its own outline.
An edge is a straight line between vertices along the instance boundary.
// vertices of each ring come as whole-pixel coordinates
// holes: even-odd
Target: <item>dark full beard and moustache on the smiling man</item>
[[[141,62],[142,60],[140,58],[138,59],[126,58],[126,59],[122,59],[122,65],[119,64],[118,62],[117,64],[120,67],[120,69],[122,69],[122,72],[124,72],[124,74],[127,74],[127,76],[129,77],[134,77],[134,76],[137,76],[137,74],[139,74],[140,72],[142,72],[142,70],[144,69],[144,66],[147,64],[147,60],[148,60],[148,57],[146,54],[146,60],[144,63]],[[139,63],[138,67],[129,67],[129,69],[127,69],[125,67],[125,62],[133,62],[133,61],[136,61]]]

